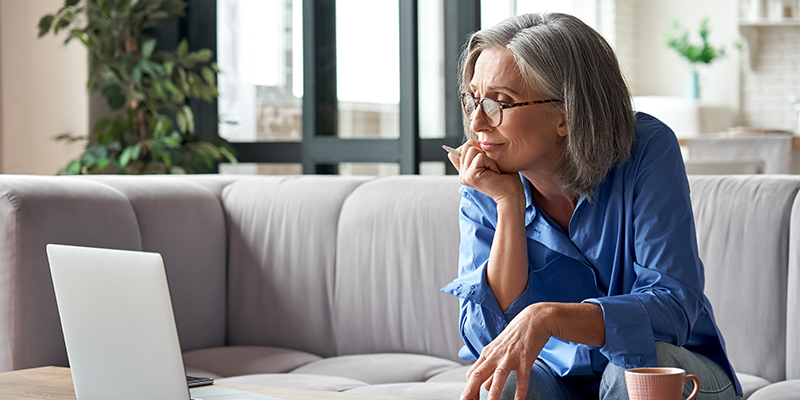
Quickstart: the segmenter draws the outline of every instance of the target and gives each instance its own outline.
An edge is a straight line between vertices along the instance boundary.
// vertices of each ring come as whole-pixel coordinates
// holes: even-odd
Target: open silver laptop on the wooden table
[[[279,400],[189,389],[160,254],[47,245],[77,400]]]

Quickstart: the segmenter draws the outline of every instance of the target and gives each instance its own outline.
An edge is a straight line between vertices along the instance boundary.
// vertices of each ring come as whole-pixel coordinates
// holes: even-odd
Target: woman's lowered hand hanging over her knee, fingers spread
[[[511,371],[517,373],[514,399],[525,400],[531,367],[552,336],[548,314],[542,303],[528,306],[484,347],[467,372],[467,387],[461,393],[461,400],[479,399],[481,385],[489,391],[487,400],[497,400]]]

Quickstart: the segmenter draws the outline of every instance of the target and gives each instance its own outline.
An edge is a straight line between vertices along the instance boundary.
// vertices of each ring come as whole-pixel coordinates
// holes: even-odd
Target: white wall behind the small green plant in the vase
[[[636,96],[683,96],[689,79],[688,62],[669,49],[661,39],[675,19],[692,32],[699,43],[700,21],[709,17],[709,39],[714,46],[725,46],[727,55],[701,72],[701,97],[704,103],[729,108],[740,121],[740,51],[733,43],[740,40],[737,0],[638,0],[636,1],[636,64],[633,87]]]

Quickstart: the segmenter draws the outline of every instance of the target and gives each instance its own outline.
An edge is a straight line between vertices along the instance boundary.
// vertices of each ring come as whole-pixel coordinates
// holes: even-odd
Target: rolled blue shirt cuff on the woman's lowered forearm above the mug
[[[658,365],[650,317],[636,296],[600,297],[583,302],[603,309],[606,342],[600,353],[611,363],[625,369]]]

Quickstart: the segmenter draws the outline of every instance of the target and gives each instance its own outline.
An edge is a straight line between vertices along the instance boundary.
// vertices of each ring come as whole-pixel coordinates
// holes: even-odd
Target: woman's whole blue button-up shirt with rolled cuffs
[[[569,232],[543,213],[525,188],[528,284],[502,310],[486,281],[497,224],[490,197],[462,187],[459,277],[442,291],[461,298],[459,356],[477,358],[526,306],[586,302],[603,310],[606,342],[596,348],[551,338],[539,357],[561,376],[656,366],[656,341],[685,347],[719,363],[741,387],[703,294],[689,183],[672,131],[637,113],[630,159],[612,169],[589,201],[579,199]]]

